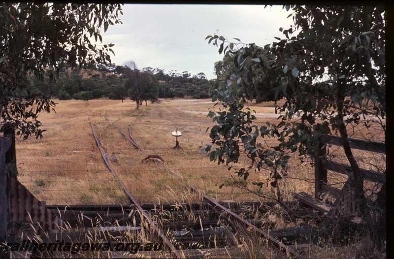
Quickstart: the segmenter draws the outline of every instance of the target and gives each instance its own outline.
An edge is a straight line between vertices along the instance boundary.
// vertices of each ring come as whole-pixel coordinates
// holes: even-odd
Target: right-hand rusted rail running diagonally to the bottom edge
[[[104,116],[105,117],[105,116]],[[105,117],[105,119],[109,121],[108,118]],[[111,123],[111,122],[110,122]],[[119,129],[119,127],[117,127],[115,124],[111,123],[116,129],[118,129],[118,131],[125,136],[125,134],[122,132],[121,129]],[[138,149],[140,149],[142,152],[148,154],[145,150],[143,150],[136,142],[135,140],[132,138],[131,135],[131,126],[129,127],[129,135],[130,138],[126,138],[128,139],[133,145],[135,145],[136,147],[138,147]],[[182,182],[184,182],[184,180],[178,176],[177,174],[175,174],[173,171],[171,171],[169,168],[167,168],[166,166],[164,166],[164,164],[157,162],[157,164],[159,166],[161,166],[162,168],[164,168],[166,171],[168,171],[169,173],[171,173],[172,175],[174,175],[175,177],[177,177],[178,179],[180,179]],[[232,212],[230,209],[224,207],[223,205],[219,204],[217,201],[215,201],[214,199],[212,199],[211,197],[207,196],[206,194],[204,194],[202,191],[198,190],[196,187],[190,186],[191,190],[194,193],[200,194],[202,195],[203,199],[210,204],[213,208],[219,208],[220,210],[226,212],[227,214],[229,214],[234,220],[236,220],[237,222],[243,224],[244,226],[247,227],[252,227],[253,230],[255,230],[257,233],[259,233],[260,235],[264,236],[265,238],[267,238],[271,243],[279,246],[280,248],[284,249],[286,252],[288,252],[290,255],[292,255],[295,258],[301,258],[301,255],[299,255],[295,250],[293,250],[292,248],[284,245],[282,242],[278,241],[277,239],[275,239],[274,237],[270,236],[268,233],[264,232],[263,230],[261,230],[260,228],[256,227],[255,225],[251,224],[250,222],[242,219],[241,217],[239,217],[239,215],[235,214],[234,212]]]

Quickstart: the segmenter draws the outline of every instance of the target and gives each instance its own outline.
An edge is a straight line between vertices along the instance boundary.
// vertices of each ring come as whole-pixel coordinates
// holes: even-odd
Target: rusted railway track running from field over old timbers
[[[182,222],[182,221],[181,221],[182,223],[177,224],[176,221],[173,221],[173,222],[171,222],[171,224],[168,224],[167,226],[161,226],[162,227],[162,229],[161,229],[159,226],[157,226],[156,222],[154,222],[152,220],[152,218],[148,215],[148,213],[146,213],[144,211],[144,208],[132,196],[130,191],[126,188],[126,186],[119,179],[119,177],[117,176],[115,171],[112,169],[110,163],[108,162],[108,158],[107,158],[107,156],[105,156],[105,152],[102,149],[102,146],[103,146],[102,141],[101,141],[102,133],[109,126],[113,126],[115,129],[117,129],[119,131],[119,133],[123,136],[123,138],[125,140],[129,141],[132,144],[132,146],[136,150],[139,150],[139,151],[145,153],[146,155],[148,155],[148,153],[140,145],[138,145],[138,143],[133,138],[133,136],[131,134],[131,125],[129,126],[129,136],[127,136],[115,123],[111,122],[106,116],[104,116],[104,118],[107,120],[108,125],[102,130],[102,132],[99,135],[99,138],[97,138],[97,135],[95,133],[93,123],[91,122],[90,117],[89,117],[89,122],[91,124],[94,138],[96,140],[96,143],[99,147],[101,156],[102,156],[106,166],[108,167],[109,171],[114,175],[115,179],[119,182],[120,186],[123,188],[125,193],[128,195],[128,197],[131,200],[131,203],[135,206],[135,208],[138,210],[138,212],[145,218],[145,220],[150,224],[150,226],[155,230],[156,234],[161,238],[161,240],[163,240],[165,246],[171,251],[171,253],[174,257],[180,258],[180,257],[185,256],[185,253],[182,254],[178,249],[193,248],[193,243],[203,244],[202,247],[204,247],[204,248],[209,247],[209,240],[212,236],[213,236],[213,238],[216,239],[215,246],[217,244],[222,244],[223,246],[228,246],[229,242],[226,241],[227,240],[226,237],[224,237],[223,240],[220,240],[220,238],[223,237],[226,234],[225,232],[228,231],[229,229],[232,229],[233,231],[237,231],[237,229],[240,226],[242,226],[242,227],[244,227],[244,229],[248,229],[248,231],[253,231],[254,233],[257,233],[261,237],[265,238],[271,244],[274,244],[278,248],[280,248],[281,250],[285,251],[288,255],[291,255],[294,258],[301,258],[301,256],[294,249],[292,249],[292,248],[288,247],[287,245],[283,244],[282,242],[278,241],[272,235],[269,235],[268,233],[266,233],[265,231],[263,231],[259,227],[256,227],[256,225],[252,224],[252,221],[248,221],[248,220],[241,218],[238,214],[236,214],[234,211],[232,211],[230,209],[230,207],[226,207],[224,204],[218,203],[216,200],[212,199],[208,195],[204,194],[204,192],[202,192],[201,190],[199,190],[193,186],[189,186],[189,188],[193,193],[196,193],[196,194],[202,196],[202,199],[204,201],[203,206],[205,206],[204,210],[206,210],[206,211],[209,210],[211,213],[211,216],[215,215],[212,217],[212,218],[214,218],[214,220],[211,220],[210,222],[209,222],[209,220],[208,221],[204,220],[205,227],[210,227],[211,230],[213,230],[213,231],[209,232],[208,228],[205,228],[206,230],[204,231],[203,230],[204,225],[202,224],[201,219],[200,219],[200,224],[196,224],[196,222],[192,222],[192,223],[189,222],[188,224],[186,224],[185,222]],[[180,177],[179,175],[177,175],[176,173],[171,171],[162,162],[156,162],[156,164],[158,166],[162,167],[166,172],[168,172],[169,174],[174,176],[180,182],[185,183],[185,181],[183,180],[182,177]],[[168,211],[168,214],[171,214],[171,212]],[[168,220],[168,219],[166,219],[166,220]],[[207,222],[209,222],[209,224],[206,224]],[[216,224],[213,224],[213,222]],[[231,226],[231,227],[225,228],[225,227],[221,226],[221,224],[219,224],[220,222],[222,222],[222,225]],[[190,233],[190,232],[182,232],[182,230],[174,230],[174,229],[176,229],[176,227],[174,228],[174,226],[183,226],[183,227],[189,226],[190,227],[191,225],[198,226],[202,231]],[[166,230],[165,230],[165,227],[167,227]],[[172,231],[172,239],[171,240],[173,243],[175,243],[175,246],[177,246],[178,249],[175,248],[174,244],[164,234],[164,232],[166,232],[168,234],[171,231]],[[178,232],[176,232],[176,231],[178,231]],[[179,231],[181,231],[181,232],[179,232]],[[205,232],[205,235],[209,236],[208,239],[204,238],[204,232]],[[176,237],[177,234],[179,234],[180,236]],[[227,234],[233,234],[233,233],[227,233]],[[186,235],[186,236],[184,236],[184,235]],[[182,239],[182,237],[184,237],[184,238]],[[205,242],[205,240],[208,240],[208,243]],[[202,247],[197,247],[197,248],[201,249]],[[228,253],[227,250],[223,251],[223,252]],[[232,251],[232,252],[234,252],[234,251]]]

